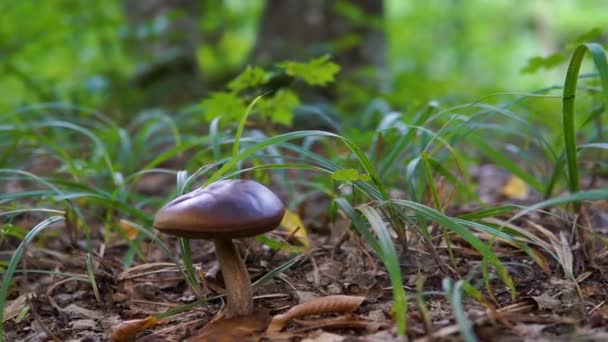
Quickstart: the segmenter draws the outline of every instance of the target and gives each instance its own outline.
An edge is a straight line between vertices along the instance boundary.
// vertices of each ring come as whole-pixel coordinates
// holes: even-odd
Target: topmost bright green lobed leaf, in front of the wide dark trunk
[[[285,69],[289,76],[299,77],[310,85],[324,86],[335,80],[340,66],[329,60],[329,56],[315,58],[308,63],[283,62],[279,67]]]

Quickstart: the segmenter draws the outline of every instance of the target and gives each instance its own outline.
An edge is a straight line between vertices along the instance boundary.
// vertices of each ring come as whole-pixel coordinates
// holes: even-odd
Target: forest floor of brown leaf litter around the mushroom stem
[[[488,184],[480,191],[485,201],[503,202],[500,188],[491,184],[499,179],[490,167]],[[481,173],[483,174],[483,173]],[[484,184],[478,179],[479,184]],[[516,296],[499,280],[492,281],[492,293],[483,285],[479,253],[464,241],[451,241],[453,258],[444,243],[437,242],[437,258],[421,242],[412,238],[407,250],[399,248],[401,269],[409,298],[408,335],[399,338],[391,311],[392,291],[387,271],[365,242],[349,230],[349,221],[338,217],[330,222],[329,199],[310,198],[299,214],[307,227],[311,248],[297,262],[256,289],[256,312],[250,317],[217,320],[224,302],[210,299],[193,309],[162,319],[136,336],[137,341],[441,341],[461,340],[461,325],[454,315],[453,303],[444,296],[445,278],[465,278],[479,287],[487,302],[464,297],[462,304],[468,321],[479,340],[556,341],[608,340],[608,253],[583,256],[581,246],[562,248],[561,264],[546,257],[546,269],[539,267],[521,250],[496,243],[494,250],[507,265],[516,286]],[[447,214],[463,213],[470,206],[451,208]],[[585,220],[599,236],[608,237],[608,202],[585,206]],[[567,217],[556,208],[557,216]],[[23,226],[44,219],[28,213],[19,218]],[[508,219],[508,217],[505,217]],[[28,224],[27,222],[31,222]],[[546,229],[555,236],[570,239],[572,226],[556,216],[530,214],[518,219],[521,227]],[[99,227],[100,231],[102,227]],[[84,241],[70,241],[65,227],[53,230],[27,248],[21,267],[51,270],[53,274],[20,273],[9,293],[5,309],[7,341],[106,341],[119,324],[142,319],[173,309],[196,297],[181,273],[156,246],[144,241],[141,250],[146,263],[124,269],[122,259],[127,244],[115,239],[112,244],[96,246],[92,260],[99,290],[96,298],[86,277]],[[282,232],[285,233],[285,232]],[[273,234],[273,233],[270,233]],[[280,233],[275,233],[280,234]],[[542,234],[539,233],[540,238]],[[544,237],[547,238],[546,236]],[[165,238],[163,238],[165,239]],[[176,241],[166,238],[177,251]],[[239,243],[246,255],[252,280],[294,257],[283,251],[261,247],[253,239]],[[598,246],[599,247],[599,246]],[[221,294],[221,273],[213,244],[193,241],[193,260],[203,275],[204,294]],[[563,265],[571,258],[575,281],[564,276]],[[422,288],[422,291],[417,290]],[[350,313],[330,313],[291,320],[279,333],[268,335],[273,316],[315,298],[343,300],[364,297]],[[423,300],[417,298],[424,295]],[[356,297],[355,297],[356,296]],[[338,298],[338,299],[335,299]],[[330,299],[328,299],[330,300]],[[419,307],[417,303],[425,305]],[[359,305],[360,304],[360,305]],[[21,315],[27,309],[27,314]],[[331,310],[329,310],[331,311]],[[337,310],[340,311],[340,310]],[[348,311],[348,310],[347,310]],[[213,324],[209,324],[214,320]]]

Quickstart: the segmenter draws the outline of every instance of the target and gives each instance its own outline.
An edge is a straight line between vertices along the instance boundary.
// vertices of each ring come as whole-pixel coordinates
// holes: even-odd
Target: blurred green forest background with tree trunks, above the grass
[[[0,113],[61,102],[120,120],[325,54],[338,105],[461,103],[561,83],[573,44],[605,41],[606,23],[598,0],[2,0]]]

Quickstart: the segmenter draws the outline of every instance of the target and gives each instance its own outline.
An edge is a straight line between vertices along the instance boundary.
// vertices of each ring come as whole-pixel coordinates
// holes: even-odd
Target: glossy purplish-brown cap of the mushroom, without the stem
[[[284,213],[283,203],[267,187],[229,179],[165,204],[154,217],[154,227],[186,238],[232,239],[273,230]]]

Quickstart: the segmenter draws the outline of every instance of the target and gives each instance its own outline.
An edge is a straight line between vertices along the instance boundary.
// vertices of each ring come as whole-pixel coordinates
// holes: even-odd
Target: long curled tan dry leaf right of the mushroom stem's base
[[[344,313],[356,310],[365,297],[361,296],[327,296],[313,299],[310,302],[296,305],[284,314],[276,315],[266,329],[266,334],[273,335],[279,333],[287,323],[298,317],[306,315],[320,315],[325,313]]]

